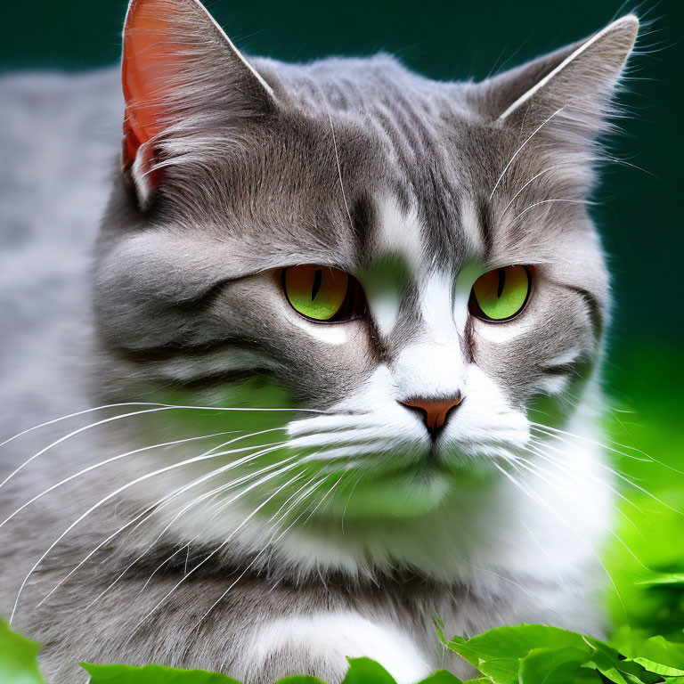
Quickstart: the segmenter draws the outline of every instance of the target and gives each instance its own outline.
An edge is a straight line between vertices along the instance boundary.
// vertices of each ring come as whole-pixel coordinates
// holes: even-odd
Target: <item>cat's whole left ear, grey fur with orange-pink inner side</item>
[[[121,80],[122,171],[143,206],[161,182],[165,141],[187,138],[193,126],[200,134],[218,117],[263,115],[274,102],[271,87],[198,0],[131,0]]]

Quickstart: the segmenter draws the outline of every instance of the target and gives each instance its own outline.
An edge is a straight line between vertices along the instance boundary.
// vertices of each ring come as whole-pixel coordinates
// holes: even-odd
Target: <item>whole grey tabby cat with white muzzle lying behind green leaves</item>
[[[601,634],[587,203],[638,29],[442,83],[133,0],[123,100],[4,77],[0,613],[46,680],[409,684],[472,674],[435,615]]]

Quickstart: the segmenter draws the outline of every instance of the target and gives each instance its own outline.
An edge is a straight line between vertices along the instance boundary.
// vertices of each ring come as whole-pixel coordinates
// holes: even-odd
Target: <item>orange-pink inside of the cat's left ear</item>
[[[152,5],[157,4],[157,16]],[[168,11],[169,4],[164,4]],[[164,127],[164,102],[177,85],[182,45],[174,35],[173,17],[159,17],[159,4],[134,0],[126,16],[121,82],[126,100],[123,169],[130,167],[141,145]],[[147,161],[151,162],[151,154]],[[151,179],[153,180],[153,179]]]

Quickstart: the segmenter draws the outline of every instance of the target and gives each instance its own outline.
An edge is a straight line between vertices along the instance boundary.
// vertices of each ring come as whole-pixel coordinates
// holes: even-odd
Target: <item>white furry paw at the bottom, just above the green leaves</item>
[[[346,611],[277,618],[265,623],[252,642],[251,666],[257,672],[265,664],[288,663],[292,668],[264,672],[267,676],[312,672],[341,680],[349,666],[347,657],[362,656],[379,662],[397,684],[412,684],[435,669],[404,631]]]

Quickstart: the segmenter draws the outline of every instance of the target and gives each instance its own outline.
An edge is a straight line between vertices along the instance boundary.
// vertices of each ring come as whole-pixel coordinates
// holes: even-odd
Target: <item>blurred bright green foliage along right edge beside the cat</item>
[[[629,501],[620,506],[606,566],[615,582],[613,642],[629,651],[655,635],[684,641],[684,368],[677,348],[642,347],[625,356],[619,375],[634,404],[610,419]]]

